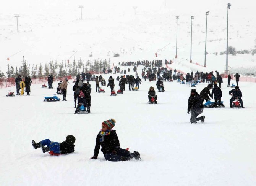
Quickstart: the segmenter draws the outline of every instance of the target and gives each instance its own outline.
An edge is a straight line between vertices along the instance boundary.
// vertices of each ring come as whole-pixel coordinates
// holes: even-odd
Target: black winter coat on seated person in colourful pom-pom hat
[[[100,146],[101,146],[101,151],[104,155],[106,153],[112,153],[112,152],[120,149],[118,136],[117,136],[117,133],[115,132],[115,130],[110,131],[109,135],[105,135],[103,142],[100,142],[100,139],[101,139],[101,135],[99,132],[99,134],[96,137],[96,143],[95,143],[93,156],[98,157]]]

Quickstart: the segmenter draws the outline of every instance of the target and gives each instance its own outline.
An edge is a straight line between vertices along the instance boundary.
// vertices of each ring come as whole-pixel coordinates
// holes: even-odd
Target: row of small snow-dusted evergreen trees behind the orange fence
[[[88,59],[86,63],[84,64],[81,58],[76,62],[75,58],[73,60],[73,64],[70,64],[69,62],[62,61],[60,64],[58,64],[57,60],[53,64],[53,62],[45,63],[44,67],[43,64],[40,65],[30,65],[27,64],[26,60],[23,58],[22,65],[15,69],[13,66],[7,65],[7,72],[6,75],[3,72],[0,72],[0,78],[15,78],[19,74],[22,78],[25,76],[31,76],[31,78],[44,78],[47,77],[49,74],[52,74],[55,78],[62,78],[64,76],[71,75],[72,77],[76,76],[78,72],[96,72],[101,73],[103,69],[110,68],[110,60],[96,60],[94,59],[94,62],[92,62],[91,59]]]

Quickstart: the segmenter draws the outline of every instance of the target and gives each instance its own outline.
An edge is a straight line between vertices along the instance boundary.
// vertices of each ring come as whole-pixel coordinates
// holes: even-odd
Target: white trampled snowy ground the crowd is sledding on
[[[103,75],[105,79],[109,76]],[[115,81],[115,90],[117,84]],[[198,84],[196,90],[200,92],[206,85]],[[255,83],[240,83],[245,109],[230,109],[231,88],[224,82],[222,100],[226,108],[205,108],[205,123],[198,124],[191,124],[186,113],[191,88],[177,82],[164,83],[166,91],[157,92],[158,104],[149,105],[147,91],[149,86],[156,88],[156,81],[143,79],[139,91],[128,91],[126,85],[124,94],[116,97],[110,97],[107,87],[105,93],[96,93],[91,81],[91,114],[80,115],[74,114],[73,83],[68,84],[66,102],[43,102],[44,96],[52,95],[55,89],[41,86],[32,84],[31,96],[5,97],[8,89],[0,89],[1,185],[256,183],[256,106],[251,99]],[[114,129],[121,147],[139,151],[141,162],[109,162],[101,152],[97,160],[89,160],[101,123],[110,118],[117,121]],[[45,138],[61,142],[70,134],[76,137],[72,154],[50,156],[31,145],[31,140]]]

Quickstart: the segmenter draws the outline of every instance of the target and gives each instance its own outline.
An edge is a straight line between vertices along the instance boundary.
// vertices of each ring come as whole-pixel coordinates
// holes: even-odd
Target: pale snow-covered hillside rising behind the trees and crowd
[[[228,45],[237,50],[254,48],[256,20],[253,6],[247,1],[230,1]],[[6,72],[7,63],[21,65],[25,56],[28,64],[50,60],[61,62],[72,54],[86,61],[110,59],[112,62],[127,60],[173,60],[176,49],[176,18],[178,19],[178,58],[190,60],[190,32],[193,19],[192,60],[204,65],[205,12],[210,11],[207,22],[207,59],[209,68],[224,71],[226,56],[227,3],[223,1],[119,1],[96,0],[84,4],[83,20],[79,19],[78,5],[83,1],[25,0],[8,1],[0,10],[0,60],[1,70]],[[199,6],[200,5],[200,6]],[[136,6],[134,15],[133,6]],[[19,33],[16,32],[14,14],[20,14]],[[171,43],[169,46],[154,53]],[[22,51],[10,57],[16,52]],[[118,52],[120,57],[113,57]],[[214,53],[218,55],[215,56]],[[10,61],[7,61],[10,57]],[[73,59],[73,58],[72,58]],[[229,55],[230,67],[255,62],[255,55]],[[255,64],[255,63],[253,63]]]

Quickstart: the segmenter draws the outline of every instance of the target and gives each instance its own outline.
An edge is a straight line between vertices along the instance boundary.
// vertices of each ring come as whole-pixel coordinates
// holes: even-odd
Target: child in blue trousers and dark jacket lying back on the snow
[[[68,135],[66,137],[66,141],[63,141],[62,143],[53,142],[49,139],[42,140],[39,143],[36,143],[34,140],[32,140],[32,146],[34,149],[42,147],[43,153],[53,151],[54,154],[67,154],[73,153],[75,151],[75,141],[76,138],[73,135]],[[45,145],[47,147],[45,147]]]

